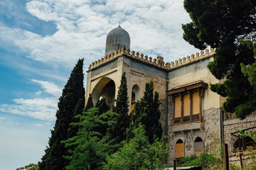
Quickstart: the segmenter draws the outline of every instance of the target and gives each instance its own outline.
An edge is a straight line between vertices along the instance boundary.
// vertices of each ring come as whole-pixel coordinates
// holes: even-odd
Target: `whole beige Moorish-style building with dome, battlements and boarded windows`
[[[146,82],[153,80],[154,91],[159,92],[161,101],[164,135],[169,136],[170,160],[216,152],[221,139],[233,151],[238,139],[231,139],[231,133],[256,126],[253,116],[246,120],[228,120],[221,115],[225,98],[209,89],[210,84],[221,82],[207,68],[213,61],[213,49],[165,63],[164,57],[153,59],[126,49],[130,43],[128,38],[129,34],[121,27],[107,35],[105,57],[92,62],[87,70],[86,101],[92,94],[94,103],[102,96],[108,104],[114,104],[122,73],[126,72],[132,111],[134,101],[143,96]]]

